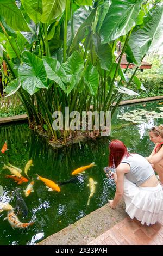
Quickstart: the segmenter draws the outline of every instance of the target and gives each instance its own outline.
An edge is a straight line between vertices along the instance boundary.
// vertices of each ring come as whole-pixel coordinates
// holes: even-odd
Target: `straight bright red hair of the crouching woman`
[[[116,168],[122,161],[123,157],[128,157],[130,155],[127,151],[126,145],[124,145],[123,142],[119,141],[118,139],[113,139],[109,143],[109,150],[109,167],[112,168]]]

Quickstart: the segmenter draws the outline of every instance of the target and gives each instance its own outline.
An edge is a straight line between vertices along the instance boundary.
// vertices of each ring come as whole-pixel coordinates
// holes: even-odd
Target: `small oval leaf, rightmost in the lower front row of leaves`
[[[95,66],[91,63],[89,63],[89,66],[84,71],[84,82],[89,87],[91,95],[95,96],[97,94],[99,76]]]

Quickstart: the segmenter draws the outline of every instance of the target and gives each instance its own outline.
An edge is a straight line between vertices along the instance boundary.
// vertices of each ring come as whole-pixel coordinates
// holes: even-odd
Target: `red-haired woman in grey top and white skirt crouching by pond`
[[[163,191],[145,157],[129,154],[122,141],[109,143],[109,166],[116,168],[116,193],[110,207],[115,209],[122,196],[130,218],[141,224],[155,224],[163,218]]]

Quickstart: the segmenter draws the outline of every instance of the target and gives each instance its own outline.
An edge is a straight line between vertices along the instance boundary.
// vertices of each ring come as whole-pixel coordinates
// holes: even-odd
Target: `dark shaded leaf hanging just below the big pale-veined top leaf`
[[[99,57],[99,62],[102,69],[110,69],[112,64],[112,51],[109,44],[101,44],[100,37],[97,34],[93,35],[93,44],[95,45],[95,52]]]

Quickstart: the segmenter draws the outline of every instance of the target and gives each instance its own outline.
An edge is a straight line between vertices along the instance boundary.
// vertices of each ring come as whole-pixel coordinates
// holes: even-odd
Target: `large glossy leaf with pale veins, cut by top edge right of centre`
[[[102,43],[116,40],[121,35],[126,35],[139,15],[140,5],[144,0],[114,0],[105,16],[101,27]]]

